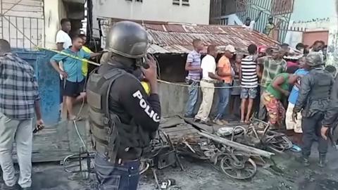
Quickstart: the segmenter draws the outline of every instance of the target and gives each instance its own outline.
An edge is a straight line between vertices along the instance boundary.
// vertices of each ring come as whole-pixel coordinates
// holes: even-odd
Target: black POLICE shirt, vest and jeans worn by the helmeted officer
[[[139,158],[161,118],[158,94],[146,94],[141,74],[137,68],[108,61],[89,77],[89,125],[99,189],[137,189]]]

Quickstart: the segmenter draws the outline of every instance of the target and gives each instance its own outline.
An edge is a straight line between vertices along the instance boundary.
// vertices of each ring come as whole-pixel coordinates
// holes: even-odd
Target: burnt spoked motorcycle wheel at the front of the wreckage
[[[234,179],[250,179],[257,172],[256,163],[248,156],[235,155],[237,158],[234,160],[232,156],[227,155],[220,160],[220,167],[225,175]]]

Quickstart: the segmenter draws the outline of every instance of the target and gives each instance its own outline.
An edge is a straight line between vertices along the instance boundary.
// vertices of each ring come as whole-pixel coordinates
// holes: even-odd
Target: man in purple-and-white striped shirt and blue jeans
[[[194,50],[187,56],[187,63],[185,70],[188,71],[186,78],[189,87],[189,98],[187,107],[185,109],[185,118],[194,118],[194,110],[199,97],[199,80],[201,80],[201,54],[199,53],[204,49],[201,39],[194,39],[192,42]]]

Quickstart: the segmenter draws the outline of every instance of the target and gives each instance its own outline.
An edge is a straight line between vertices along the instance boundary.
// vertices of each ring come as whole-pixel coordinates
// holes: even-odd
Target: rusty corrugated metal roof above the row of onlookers
[[[114,19],[101,20],[102,34],[105,37],[108,26]],[[151,47],[149,53],[189,53],[192,51],[193,39],[201,39],[204,44],[222,47],[231,44],[237,51],[246,53],[250,44],[257,46],[276,46],[279,44],[265,34],[249,31],[240,26],[224,25],[189,25],[177,23],[146,23],[137,21],[149,32]]]

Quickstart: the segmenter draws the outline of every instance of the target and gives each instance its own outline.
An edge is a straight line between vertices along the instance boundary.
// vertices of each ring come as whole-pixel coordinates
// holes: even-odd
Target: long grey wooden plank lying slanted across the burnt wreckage
[[[235,141],[230,141],[228,139],[224,139],[222,137],[218,137],[217,135],[208,133],[208,132],[199,132],[199,134],[203,137],[206,137],[208,139],[212,139],[213,141],[216,141],[220,144],[225,144],[226,146],[230,146],[232,148],[236,148],[240,151],[246,151],[249,153],[252,153],[254,155],[258,155],[258,156],[263,156],[265,158],[271,158],[271,156],[275,155],[275,153],[270,153],[268,151],[263,151],[261,149],[258,148],[253,148],[251,146],[246,146],[244,144],[239,144]]]

